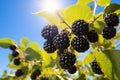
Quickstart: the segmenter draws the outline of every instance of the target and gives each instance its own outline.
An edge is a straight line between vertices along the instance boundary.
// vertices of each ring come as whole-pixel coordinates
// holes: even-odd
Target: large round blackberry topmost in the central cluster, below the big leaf
[[[89,31],[89,24],[84,20],[76,20],[72,24],[72,32],[77,36],[86,35],[88,31]]]

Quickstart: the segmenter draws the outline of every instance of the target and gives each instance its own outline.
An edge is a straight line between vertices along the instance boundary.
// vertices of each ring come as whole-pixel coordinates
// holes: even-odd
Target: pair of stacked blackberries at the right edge
[[[116,29],[114,26],[119,24],[119,17],[116,15],[116,13],[110,13],[104,17],[104,21],[107,26],[103,29],[103,38],[111,39],[115,37]]]

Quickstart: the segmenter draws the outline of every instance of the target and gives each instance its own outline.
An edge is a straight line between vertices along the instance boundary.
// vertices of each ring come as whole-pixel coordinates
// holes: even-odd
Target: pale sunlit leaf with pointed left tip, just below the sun
[[[64,19],[64,9],[59,9],[58,12]],[[43,17],[50,24],[57,25],[61,29],[65,29],[67,27],[60,19],[60,17],[57,15],[56,12],[51,13],[49,11],[40,11],[40,12],[36,12],[35,14]]]

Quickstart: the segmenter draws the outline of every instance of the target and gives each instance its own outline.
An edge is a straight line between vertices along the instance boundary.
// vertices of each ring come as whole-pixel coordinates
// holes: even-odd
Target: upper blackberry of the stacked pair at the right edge
[[[117,26],[119,24],[119,18],[116,15],[116,13],[107,14],[104,18],[104,21],[107,24],[107,26],[110,27]]]

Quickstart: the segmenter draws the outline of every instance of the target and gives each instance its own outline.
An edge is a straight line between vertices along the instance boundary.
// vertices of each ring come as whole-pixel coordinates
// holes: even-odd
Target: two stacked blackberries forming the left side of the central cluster
[[[46,25],[41,34],[45,39],[47,39],[47,41],[44,43],[44,50],[47,53],[53,53],[56,50],[56,47],[53,44],[53,38],[58,34],[57,26]]]

